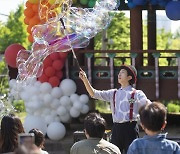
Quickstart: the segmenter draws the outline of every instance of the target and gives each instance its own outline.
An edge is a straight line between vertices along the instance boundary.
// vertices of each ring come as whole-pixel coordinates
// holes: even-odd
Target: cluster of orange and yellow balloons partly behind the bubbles
[[[57,13],[60,12],[61,5],[62,1],[60,0],[28,0],[26,2],[24,23],[28,25],[27,32],[29,33],[28,40],[30,42],[33,42],[32,27],[56,17]]]

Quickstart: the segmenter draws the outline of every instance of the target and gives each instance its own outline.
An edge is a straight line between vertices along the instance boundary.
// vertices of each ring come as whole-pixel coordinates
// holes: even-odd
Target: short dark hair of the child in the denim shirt
[[[144,105],[139,110],[142,125],[151,131],[160,131],[166,121],[166,108],[160,102]]]

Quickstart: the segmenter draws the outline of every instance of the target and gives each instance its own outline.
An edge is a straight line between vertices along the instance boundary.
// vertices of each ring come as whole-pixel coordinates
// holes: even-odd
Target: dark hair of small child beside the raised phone
[[[35,137],[35,145],[37,147],[43,146],[44,144],[44,134],[38,129],[31,129],[29,133],[33,133]]]

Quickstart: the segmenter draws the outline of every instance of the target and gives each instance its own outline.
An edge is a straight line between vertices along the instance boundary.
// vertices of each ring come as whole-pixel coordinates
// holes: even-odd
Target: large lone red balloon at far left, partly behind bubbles
[[[4,56],[9,66],[13,68],[17,68],[17,65],[16,65],[17,53],[21,49],[25,50],[25,48],[20,44],[11,44],[10,46],[6,48]]]

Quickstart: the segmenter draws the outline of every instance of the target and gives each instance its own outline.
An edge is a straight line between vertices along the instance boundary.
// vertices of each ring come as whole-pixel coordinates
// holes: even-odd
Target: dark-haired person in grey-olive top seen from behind
[[[117,146],[103,139],[105,120],[97,113],[90,113],[84,120],[87,139],[76,142],[70,154],[120,154]]]

